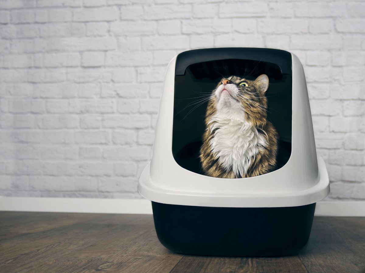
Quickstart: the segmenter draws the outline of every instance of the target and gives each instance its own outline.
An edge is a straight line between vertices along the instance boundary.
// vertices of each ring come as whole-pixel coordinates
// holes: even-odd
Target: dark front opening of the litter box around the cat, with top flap
[[[216,54],[213,58],[209,57],[208,60],[202,62],[195,63],[199,58],[193,58],[194,56],[188,55],[190,58],[187,58],[185,55],[180,56],[180,54],[177,57],[172,136],[172,153],[175,161],[184,169],[203,174],[199,152],[205,130],[204,119],[208,104],[207,95],[212,94],[212,91],[223,77],[228,78],[235,75],[254,80],[259,75],[266,74],[269,77],[269,88],[266,92],[268,98],[267,119],[276,128],[279,135],[277,169],[280,169],[287,163],[291,155],[291,55],[288,52],[280,51],[287,53],[287,55],[279,56],[280,58],[286,58],[281,61],[289,66],[283,69],[283,64],[279,64],[279,66],[276,63],[269,62],[272,61],[270,58],[265,60],[265,54],[270,56],[269,49],[237,49],[246,51],[264,50],[265,54],[261,52],[258,55],[260,58],[247,59],[241,59],[241,57],[221,59],[219,58],[219,50],[225,49],[210,50]],[[196,51],[204,53],[204,50]],[[200,59],[202,58],[201,55],[199,54]]]

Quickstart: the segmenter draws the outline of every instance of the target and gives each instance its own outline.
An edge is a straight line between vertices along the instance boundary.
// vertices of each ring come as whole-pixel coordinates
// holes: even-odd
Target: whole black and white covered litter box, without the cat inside
[[[269,79],[267,119],[278,135],[276,168],[246,178],[205,175],[199,151],[208,101],[202,94],[222,78],[255,80],[262,74]],[[308,241],[315,203],[329,190],[326,166],[316,154],[303,67],[294,54],[210,48],[171,60],[152,159],[138,184],[152,201],[157,236],[166,248],[212,256],[295,253]]]

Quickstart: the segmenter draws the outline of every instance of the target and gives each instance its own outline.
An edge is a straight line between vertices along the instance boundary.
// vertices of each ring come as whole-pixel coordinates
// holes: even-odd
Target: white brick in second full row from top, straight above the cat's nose
[[[194,19],[183,21],[182,33],[229,33],[231,31],[230,19]]]

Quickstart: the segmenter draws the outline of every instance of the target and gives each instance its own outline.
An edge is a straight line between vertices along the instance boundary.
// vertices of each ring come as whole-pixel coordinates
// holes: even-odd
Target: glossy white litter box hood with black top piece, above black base
[[[297,56],[263,48],[208,51],[209,54],[204,54],[207,50],[187,51],[191,54],[184,52],[187,56],[181,58],[177,55],[168,65],[152,159],[139,178],[139,193],[158,203],[208,207],[302,206],[326,197],[330,190],[328,174],[323,159],[316,154],[306,79]],[[194,56],[196,61],[192,58]],[[286,56],[289,66],[281,56]],[[266,61],[276,65],[281,73],[291,74],[291,153],[279,169],[256,177],[228,179],[199,174],[176,162],[172,151],[175,78],[187,73],[185,69],[194,62],[218,59]]]

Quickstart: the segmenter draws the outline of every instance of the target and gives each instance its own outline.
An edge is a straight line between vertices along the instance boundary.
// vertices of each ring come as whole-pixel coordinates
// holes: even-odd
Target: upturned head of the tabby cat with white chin
[[[215,88],[215,107],[218,114],[240,116],[258,125],[266,122],[269,78],[265,74],[255,80],[230,76],[219,81]]]

